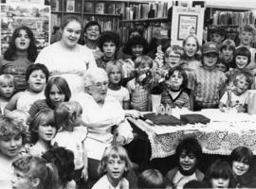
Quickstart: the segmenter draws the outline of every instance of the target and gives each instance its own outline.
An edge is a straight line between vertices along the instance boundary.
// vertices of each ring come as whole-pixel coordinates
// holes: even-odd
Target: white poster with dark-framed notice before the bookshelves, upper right
[[[172,45],[182,45],[188,35],[195,35],[202,44],[204,12],[203,8],[173,7]]]

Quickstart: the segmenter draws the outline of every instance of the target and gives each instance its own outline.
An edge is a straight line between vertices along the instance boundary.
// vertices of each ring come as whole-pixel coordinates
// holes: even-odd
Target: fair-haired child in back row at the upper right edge
[[[241,31],[239,33],[240,44],[236,47],[237,49],[245,46],[250,52],[250,59],[247,63],[247,69],[253,72],[253,75],[256,74],[256,63],[255,63],[255,53],[256,49],[251,47],[251,43],[253,42],[255,37],[255,27],[250,25],[245,25],[241,27]]]

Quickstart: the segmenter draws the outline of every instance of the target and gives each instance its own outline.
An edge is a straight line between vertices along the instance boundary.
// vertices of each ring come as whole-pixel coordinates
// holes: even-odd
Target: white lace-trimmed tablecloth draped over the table
[[[175,153],[175,147],[185,137],[194,136],[207,154],[229,155],[237,146],[247,146],[256,155],[256,115],[237,112],[220,112],[218,109],[188,112],[177,110],[173,115],[199,113],[210,118],[207,125],[150,126],[140,119],[129,118],[144,131],[150,141],[151,157],[165,158]]]

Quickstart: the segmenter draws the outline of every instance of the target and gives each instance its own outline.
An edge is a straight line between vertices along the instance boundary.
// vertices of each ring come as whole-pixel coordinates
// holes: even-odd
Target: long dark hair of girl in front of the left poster
[[[27,26],[20,26],[18,28],[16,28],[13,33],[12,33],[12,37],[11,40],[9,42],[9,48],[8,50],[4,53],[4,59],[5,60],[15,60],[17,57],[16,51],[16,44],[15,44],[15,40],[16,38],[19,36],[20,30],[25,30],[27,32],[27,36],[30,40],[28,49],[27,49],[27,60],[34,62],[37,58],[37,47],[35,45],[35,39],[34,39],[34,34],[31,31],[31,29]]]

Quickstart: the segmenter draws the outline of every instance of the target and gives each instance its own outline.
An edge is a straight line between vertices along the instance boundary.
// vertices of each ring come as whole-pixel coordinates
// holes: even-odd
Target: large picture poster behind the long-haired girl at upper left
[[[50,7],[28,4],[0,4],[1,54],[3,54],[15,28],[28,26],[34,33],[40,51],[50,42]]]

